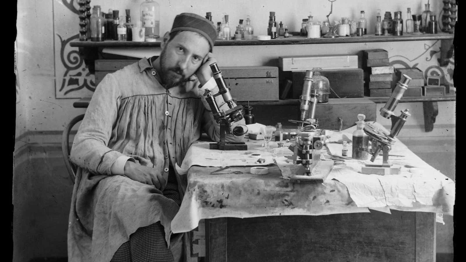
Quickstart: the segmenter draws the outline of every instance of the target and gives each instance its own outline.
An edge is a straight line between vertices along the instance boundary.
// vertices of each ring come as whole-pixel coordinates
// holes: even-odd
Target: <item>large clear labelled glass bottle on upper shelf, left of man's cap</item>
[[[154,0],[145,0],[141,4],[141,20],[145,28],[145,37],[160,37],[160,6]]]

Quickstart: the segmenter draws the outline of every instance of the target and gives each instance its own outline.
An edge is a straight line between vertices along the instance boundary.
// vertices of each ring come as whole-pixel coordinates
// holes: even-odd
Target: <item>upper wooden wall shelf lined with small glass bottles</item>
[[[269,41],[254,40],[216,40],[215,46],[254,46],[254,45],[302,45],[302,44],[336,44],[336,43],[367,43],[367,42],[396,42],[396,41],[424,41],[424,40],[452,40],[454,34],[419,34],[419,35],[364,35],[364,36],[345,36],[337,38],[316,38],[310,39],[304,36],[291,36],[288,38],[277,38]],[[72,47],[159,47],[158,42],[133,42],[133,41],[114,41],[107,40],[103,42],[92,41],[71,41]]]

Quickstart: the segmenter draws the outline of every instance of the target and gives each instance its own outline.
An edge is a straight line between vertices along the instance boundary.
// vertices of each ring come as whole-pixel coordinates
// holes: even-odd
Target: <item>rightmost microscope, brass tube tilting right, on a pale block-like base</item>
[[[364,127],[364,132],[369,136],[369,141],[372,144],[372,149],[359,148],[361,151],[369,152],[372,157],[370,162],[374,160],[382,151],[382,164],[365,164],[362,167],[362,173],[364,174],[397,174],[399,173],[401,166],[394,166],[388,161],[388,152],[391,150],[391,146],[396,142],[396,136],[401,131],[406,119],[411,116],[409,110],[405,109],[401,111],[400,116],[395,116],[394,110],[397,107],[398,102],[403,97],[404,91],[408,89],[408,83],[411,78],[403,75],[398,81],[397,86],[391,93],[385,106],[380,109],[380,115],[387,119],[391,119],[391,131],[388,132],[384,128],[377,126],[376,122],[369,122]]]

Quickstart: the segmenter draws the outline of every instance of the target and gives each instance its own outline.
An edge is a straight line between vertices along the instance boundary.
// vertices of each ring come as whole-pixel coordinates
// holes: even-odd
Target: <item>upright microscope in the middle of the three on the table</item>
[[[289,122],[298,124],[298,134],[292,145],[288,147],[293,152],[293,156],[289,156],[288,160],[292,160],[293,164],[301,164],[302,166],[290,179],[300,181],[323,181],[328,175],[328,171],[333,166],[333,161],[324,161],[325,168],[321,169],[320,174],[313,172],[313,168],[320,162],[320,151],[325,145],[325,131],[317,129],[319,126],[318,119],[315,118],[315,107],[317,104],[318,94],[312,90],[312,82],[314,72],[307,70],[304,76],[302,94],[300,100],[300,120],[288,120]]]

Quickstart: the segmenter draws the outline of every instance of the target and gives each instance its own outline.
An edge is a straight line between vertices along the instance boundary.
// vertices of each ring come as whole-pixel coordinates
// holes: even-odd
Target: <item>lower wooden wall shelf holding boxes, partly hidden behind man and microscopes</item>
[[[329,98],[328,103],[321,104],[351,104],[351,103],[386,103],[389,97],[355,97],[355,98]],[[445,97],[402,97],[400,103],[408,102],[436,102],[436,101],[456,101],[456,96]],[[75,108],[87,108],[90,102],[90,97],[83,97],[73,103]],[[238,104],[247,105],[247,101],[238,101]],[[299,105],[299,99],[285,99],[278,101],[249,101],[250,105]]]

